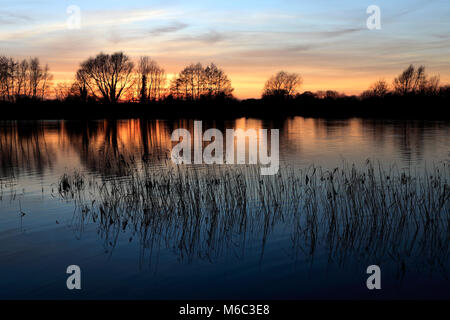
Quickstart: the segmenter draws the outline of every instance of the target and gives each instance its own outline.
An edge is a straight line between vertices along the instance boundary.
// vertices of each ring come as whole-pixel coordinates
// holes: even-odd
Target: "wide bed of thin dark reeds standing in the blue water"
[[[155,168],[120,159],[121,176],[64,175],[59,193],[72,198],[82,223],[96,223],[112,249],[121,231],[139,238],[144,252],[170,248],[180,259],[213,261],[261,252],[276,228],[289,232],[293,257],[316,251],[345,263],[353,256],[421,260],[446,275],[449,247],[448,163],[431,170],[362,167],[282,167],[261,176],[254,165]],[[318,250],[320,249],[320,250]]]

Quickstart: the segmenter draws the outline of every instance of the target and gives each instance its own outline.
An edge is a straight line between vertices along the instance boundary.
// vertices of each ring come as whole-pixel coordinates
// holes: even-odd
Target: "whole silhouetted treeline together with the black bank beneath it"
[[[135,69],[133,62],[123,52],[111,55],[100,53],[83,61],[72,83],[53,85],[51,80],[48,65],[41,65],[37,57],[18,60],[0,55],[1,107],[10,103],[23,107],[6,107],[2,110],[18,118],[65,117],[67,114],[77,117],[80,110],[77,107],[80,106],[86,108],[88,117],[97,117],[164,114],[164,106],[171,106],[172,111],[176,110],[180,114],[203,114],[211,109],[213,114],[218,115],[215,106],[223,103],[226,108],[220,114],[223,111],[233,115],[272,115],[273,107],[276,106],[280,113],[290,115],[416,117],[422,114],[413,113],[410,106],[426,103],[429,107],[423,111],[423,115],[438,114],[441,117],[444,113],[441,109],[446,110],[443,106],[448,104],[450,97],[450,87],[441,87],[439,76],[428,76],[424,66],[416,68],[410,65],[393,80],[392,85],[388,85],[385,80],[378,80],[359,98],[332,90],[300,94],[302,77],[297,73],[280,71],[266,81],[263,99],[230,101],[233,97],[231,81],[214,63],[205,67],[201,63],[190,64],[172,78],[170,86],[166,86],[166,73],[156,61],[143,56]],[[44,101],[52,99],[49,91],[61,104]],[[271,101],[272,98],[275,99]],[[129,103],[130,111],[127,108],[108,107],[89,109],[91,103],[119,101]],[[154,113],[146,108],[134,108],[131,103],[138,101],[158,101],[157,105],[163,108]],[[66,108],[69,105],[75,108]],[[198,105],[199,108],[191,109],[191,105]],[[22,113],[21,110],[27,112]],[[172,115],[172,111],[167,112]]]

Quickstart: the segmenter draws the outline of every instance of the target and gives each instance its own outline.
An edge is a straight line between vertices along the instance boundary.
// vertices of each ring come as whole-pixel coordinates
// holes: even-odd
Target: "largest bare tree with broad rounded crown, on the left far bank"
[[[117,103],[133,84],[133,67],[133,62],[123,52],[100,53],[84,61],[78,71],[95,97]]]

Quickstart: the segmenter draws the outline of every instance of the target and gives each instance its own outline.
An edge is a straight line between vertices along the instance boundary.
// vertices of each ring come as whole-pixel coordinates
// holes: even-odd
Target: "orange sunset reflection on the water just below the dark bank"
[[[279,128],[281,161],[335,166],[342,158],[367,158],[411,166],[447,160],[448,123],[425,121],[324,120],[288,118],[203,121],[204,128]],[[40,175],[77,168],[112,174],[107,159],[134,156],[164,166],[176,128],[193,120],[9,121],[0,124],[0,176]]]

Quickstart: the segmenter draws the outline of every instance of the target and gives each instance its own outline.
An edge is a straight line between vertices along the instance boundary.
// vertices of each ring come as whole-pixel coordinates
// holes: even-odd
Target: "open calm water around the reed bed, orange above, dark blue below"
[[[279,128],[282,168],[364,167],[370,159],[421,174],[450,160],[447,122],[296,117],[203,125]],[[284,219],[273,220],[267,233],[249,221],[254,232],[224,237],[226,245],[211,254],[203,240],[182,250],[161,233],[152,238],[158,245],[148,245],[139,230],[120,223],[111,238],[99,221],[80,222],[80,208],[58,193],[60,177],[74,170],[89,181],[127,179],[111,159],[134,158],[164,170],[172,131],[192,126],[193,120],[0,122],[0,298],[450,298],[448,212],[440,234],[445,243],[422,258],[413,247],[404,257],[389,248],[380,255],[340,250],[330,257],[320,242],[311,253],[302,246],[310,240],[297,238]],[[82,269],[81,291],[66,289],[72,264]],[[382,269],[377,292],[365,286],[372,264]]]

